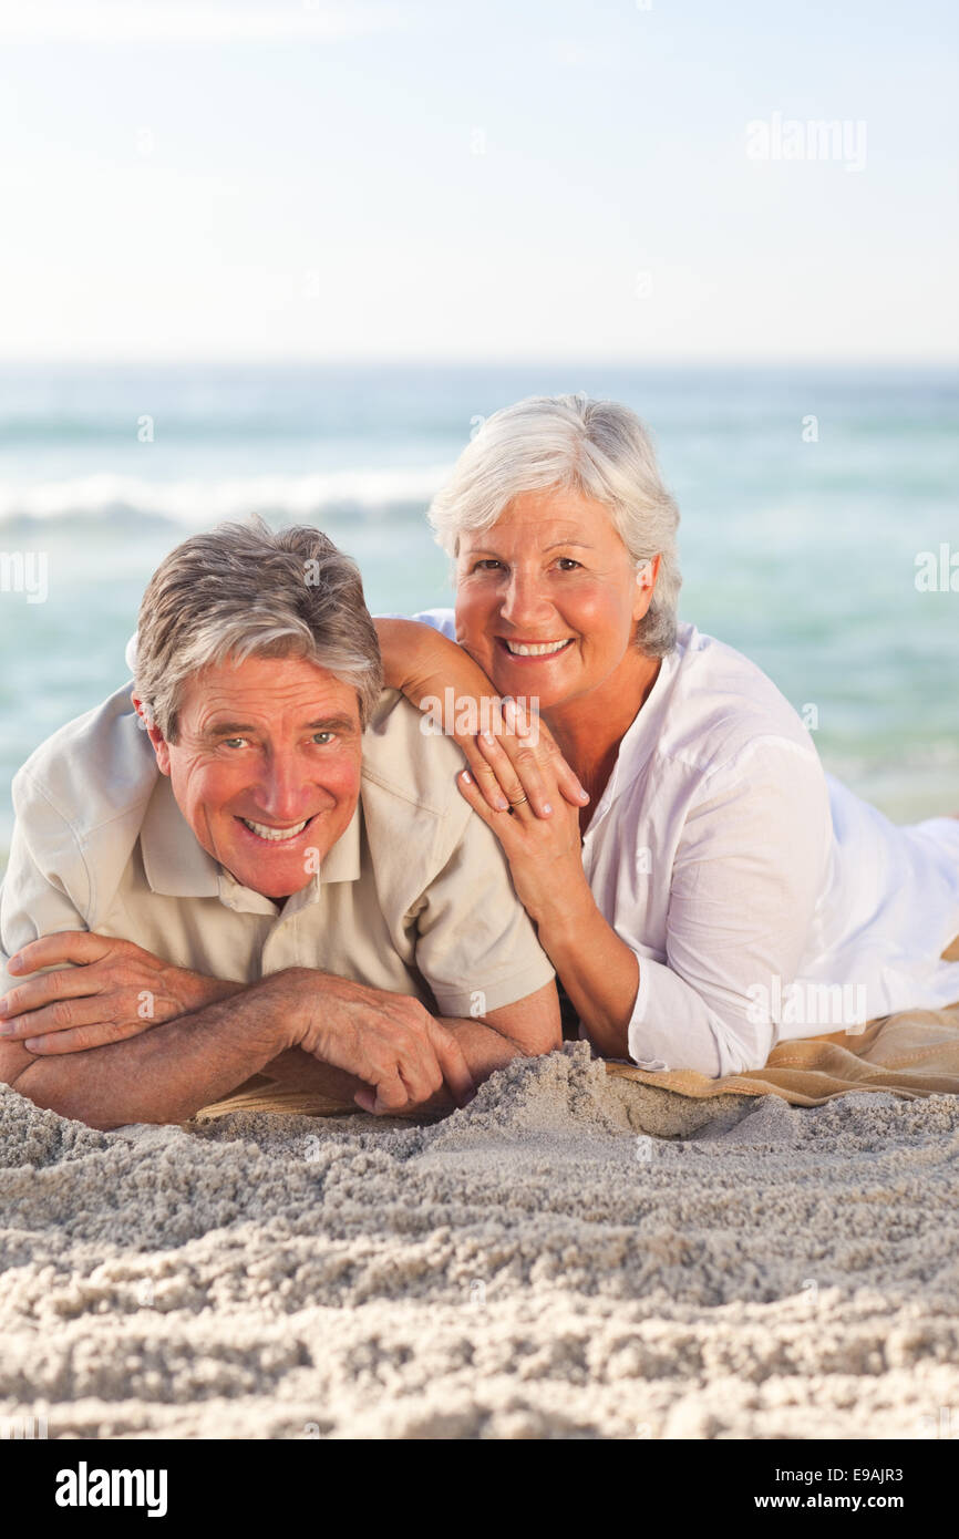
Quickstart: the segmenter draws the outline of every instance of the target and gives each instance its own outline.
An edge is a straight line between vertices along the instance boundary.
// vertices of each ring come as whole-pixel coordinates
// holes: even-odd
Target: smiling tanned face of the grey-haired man
[[[360,794],[356,689],[302,657],[248,657],[195,674],[179,726],[177,743],[149,736],[203,850],[265,897],[299,893]]]

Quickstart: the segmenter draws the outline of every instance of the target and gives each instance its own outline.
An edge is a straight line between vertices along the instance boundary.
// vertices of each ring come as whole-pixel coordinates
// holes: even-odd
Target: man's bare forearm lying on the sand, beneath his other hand
[[[12,1080],[37,1107],[94,1128],[185,1122],[288,1047],[269,979],[108,1047],[34,1059]]]

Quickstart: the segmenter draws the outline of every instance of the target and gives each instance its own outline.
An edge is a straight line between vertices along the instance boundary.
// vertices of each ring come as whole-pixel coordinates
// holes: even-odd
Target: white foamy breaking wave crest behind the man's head
[[[145,517],[205,525],[248,512],[308,519],[323,509],[425,511],[448,465],[320,471],[309,476],[239,476],[220,480],[143,480],[95,474],[29,485],[0,482],[0,523],[15,519]]]

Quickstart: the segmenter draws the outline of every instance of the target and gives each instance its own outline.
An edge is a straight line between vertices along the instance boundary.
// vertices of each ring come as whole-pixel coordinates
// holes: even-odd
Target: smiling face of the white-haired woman
[[[636,657],[659,557],[637,580],[602,503],[577,491],[514,497],[457,557],[456,631],[500,694],[540,709],[591,694]]]

